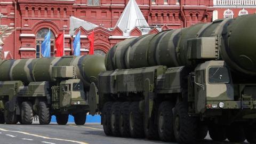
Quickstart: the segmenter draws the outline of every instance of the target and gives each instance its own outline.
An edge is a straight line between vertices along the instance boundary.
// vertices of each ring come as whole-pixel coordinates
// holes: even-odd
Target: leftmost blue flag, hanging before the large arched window
[[[44,37],[44,42],[41,45],[42,55],[45,58],[51,57],[51,30],[49,33]]]

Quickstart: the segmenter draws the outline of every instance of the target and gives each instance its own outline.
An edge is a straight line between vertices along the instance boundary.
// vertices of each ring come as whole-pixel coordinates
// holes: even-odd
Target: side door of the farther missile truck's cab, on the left
[[[71,84],[62,81],[60,83],[60,107],[68,107],[71,102]]]

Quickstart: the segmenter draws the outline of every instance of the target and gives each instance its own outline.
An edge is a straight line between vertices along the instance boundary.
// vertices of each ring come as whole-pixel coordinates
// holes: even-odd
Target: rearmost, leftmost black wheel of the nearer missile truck
[[[110,122],[110,110],[112,102],[106,102],[102,109],[102,124],[103,130],[106,135],[112,135],[111,122]]]

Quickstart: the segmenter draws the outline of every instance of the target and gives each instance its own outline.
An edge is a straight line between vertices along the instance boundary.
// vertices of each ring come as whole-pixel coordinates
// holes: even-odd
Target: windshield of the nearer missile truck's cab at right
[[[229,72],[226,67],[209,68],[210,83],[229,83]]]

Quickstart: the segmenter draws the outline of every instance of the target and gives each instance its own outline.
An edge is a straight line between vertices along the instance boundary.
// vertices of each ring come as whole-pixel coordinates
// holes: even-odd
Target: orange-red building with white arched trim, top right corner
[[[214,0],[213,20],[256,13],[256,0]]]

